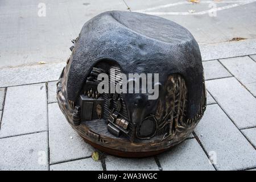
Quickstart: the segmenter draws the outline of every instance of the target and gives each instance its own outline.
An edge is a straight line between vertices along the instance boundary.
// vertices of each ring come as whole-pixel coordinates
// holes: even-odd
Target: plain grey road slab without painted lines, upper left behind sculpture
[[[0,67],[67,60],[84,23],[109,10],[127,7],[122,0],[1,2]]]

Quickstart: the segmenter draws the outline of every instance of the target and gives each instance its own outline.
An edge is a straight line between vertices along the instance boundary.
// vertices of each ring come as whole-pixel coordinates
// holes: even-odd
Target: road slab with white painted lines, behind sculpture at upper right
[[[255,1],[125,0],[131,11],[162,16],[181,24],[199,44],[220,43],[235,37],[256,38]],[[216,8],[213,13],[209,10]],[[191,13],[192,12],[192,13]],[[221,50],[222,52],[224,50]],[[215,58],[216,59],[216,58]]]

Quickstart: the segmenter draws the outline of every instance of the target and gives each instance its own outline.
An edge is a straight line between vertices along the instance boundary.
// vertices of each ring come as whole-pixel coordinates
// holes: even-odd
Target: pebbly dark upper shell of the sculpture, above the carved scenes
[[[77,99],[90,69],[102,59],[116,61],[123,73],[162,73],[160,82],[179,73],[189,90],[187,117],[199,110],[201,55],[191,33],[179,24],[125,11],[107,11],[90,19],[82,27],[71,57],[68,100]]]

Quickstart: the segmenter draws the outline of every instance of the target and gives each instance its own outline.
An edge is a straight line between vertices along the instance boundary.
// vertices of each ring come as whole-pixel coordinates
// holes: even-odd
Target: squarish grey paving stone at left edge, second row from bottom
[[[46,84],[7,89],[0,137],[47,130]]]

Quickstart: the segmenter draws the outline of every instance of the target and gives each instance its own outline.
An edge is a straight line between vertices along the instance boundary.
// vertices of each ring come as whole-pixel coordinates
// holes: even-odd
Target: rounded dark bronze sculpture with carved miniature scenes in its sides
[[[158,16],[108,11],[84,24],[57,83],[57,101],[86,142],[110,154],[158,154],[189,137],[206,108],[199,46]],[[99,93],[97,76],[159,73],[159,97]],[[111,80],[111,76],[110,76]],[[116,84],[116,83],[115,83]]]

